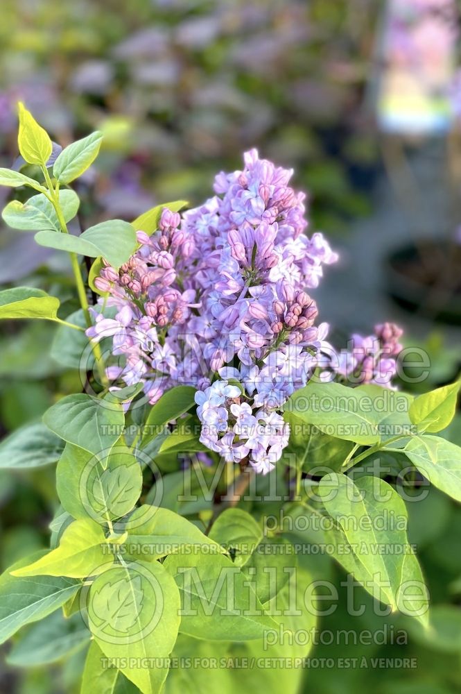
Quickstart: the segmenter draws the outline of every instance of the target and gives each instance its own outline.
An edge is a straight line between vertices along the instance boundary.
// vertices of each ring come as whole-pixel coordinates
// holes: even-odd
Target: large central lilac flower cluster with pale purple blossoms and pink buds
[[[130,260],[96,278],[116,315],[96,315],[87,330],[95,341],[112,337],[122,359],[108,375],[141,382],[150,403],[193,385],[200,441],[262,473],[288,443],[277,410],[331,353],[306,289],[338,256],[322,234],[304,234],[305,196],[289,186],[292,174],[252,150],[242,171],[216,177],[200,208],[182,218],[165,208],[153,235],[138,232]]]

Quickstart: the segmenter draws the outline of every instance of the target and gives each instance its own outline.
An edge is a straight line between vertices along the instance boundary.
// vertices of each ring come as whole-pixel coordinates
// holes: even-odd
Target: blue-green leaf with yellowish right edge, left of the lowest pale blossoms
[[[125,416],[121,403],[78,393],[52,405],[43,421],[58,437],[93,453],[104,464],[122,433]]]

